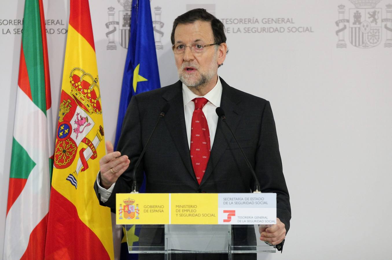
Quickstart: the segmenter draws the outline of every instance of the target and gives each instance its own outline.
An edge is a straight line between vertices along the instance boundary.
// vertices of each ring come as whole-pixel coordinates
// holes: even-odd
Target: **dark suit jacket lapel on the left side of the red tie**
[[[167,129],[171,134],[174,144],[180,153],[181,160],[185,164],[185,167],[187,168],[189,174],[191,174],[196,184],[198,184],[196,175],[193,171],[187,129],[185,126],[182,83],[181,81],[178,81],[172,86],[174,87],[169,88],[169,90],[162,96],[170,105],[170,109],[163,119],[167,125]]]

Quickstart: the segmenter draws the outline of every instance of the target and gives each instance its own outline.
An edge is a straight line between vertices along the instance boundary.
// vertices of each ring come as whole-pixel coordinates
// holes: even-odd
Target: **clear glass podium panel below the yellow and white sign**
[[[129,253],[229,253],[230,256],[276,252],[275,246],[259,239],[258,225],[124,226]]]

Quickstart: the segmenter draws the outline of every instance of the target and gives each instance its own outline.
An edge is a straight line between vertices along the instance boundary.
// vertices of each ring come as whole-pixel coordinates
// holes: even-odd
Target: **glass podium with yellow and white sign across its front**
[[[259,225],[276,223],[276,193],[126,193],[116,195],[116,223],[129,253],[275,253]]]

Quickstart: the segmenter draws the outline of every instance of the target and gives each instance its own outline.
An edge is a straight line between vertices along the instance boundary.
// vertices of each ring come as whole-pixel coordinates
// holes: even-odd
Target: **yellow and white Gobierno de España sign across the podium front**
[[[116,224],[276,224],[276,193],[117,193]]]

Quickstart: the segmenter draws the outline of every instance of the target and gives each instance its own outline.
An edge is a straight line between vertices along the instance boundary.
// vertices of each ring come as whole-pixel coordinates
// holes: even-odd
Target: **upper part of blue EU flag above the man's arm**
[[[125,60],[114,149],[120,138],[122,122],[131,97],[160,87],[150,1],[132,0],[131,36]]]

